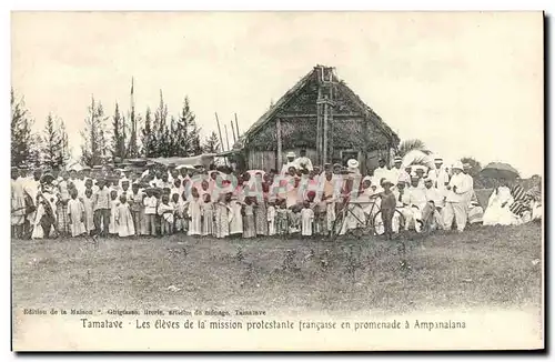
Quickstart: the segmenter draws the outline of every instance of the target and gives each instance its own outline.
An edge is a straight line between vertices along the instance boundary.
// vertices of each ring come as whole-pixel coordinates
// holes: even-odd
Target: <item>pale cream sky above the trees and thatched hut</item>
[[[170,114],[183,98],[216,131],[245,131],[316,64],[400,135],[454,161],[543,173],[541,12],[14,12],[12,87],[42,130],[63,119],[75,153],[91,97],[113,114]],[[231,138],[231,130],[230,138]]]

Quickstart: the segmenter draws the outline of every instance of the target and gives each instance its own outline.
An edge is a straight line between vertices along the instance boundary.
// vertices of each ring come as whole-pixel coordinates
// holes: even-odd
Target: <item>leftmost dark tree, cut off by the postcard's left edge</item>
[[[23,99],[16,101],[13,88],[10,93],[11,105],[11,164],[24,165],[31,157],[31,125]]]

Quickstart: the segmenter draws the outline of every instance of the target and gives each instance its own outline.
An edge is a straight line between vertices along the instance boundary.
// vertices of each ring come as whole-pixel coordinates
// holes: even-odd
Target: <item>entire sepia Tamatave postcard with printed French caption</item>
[[[543,350],[542,11],[12,11],[11,343]]]

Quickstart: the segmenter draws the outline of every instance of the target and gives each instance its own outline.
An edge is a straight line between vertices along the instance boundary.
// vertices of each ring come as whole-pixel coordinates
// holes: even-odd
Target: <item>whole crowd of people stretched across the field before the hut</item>
[[[456,230],[468,223],[516,224],[541,218],[539,180],[495,188],[484,212],[470,167],[379,167],[362,175],[359,162],[313,165],[292,152],[278,170],[238,173],[228,167],[188,168],[149,163],[137,172],[113,164],[93,169],[11,170],[14,238],[326,235],[365,227],[374,218],[391,238],[403,229]],[[342,214],[342,218],[339,215]],[[402,218],[400,217],[402,215]]]

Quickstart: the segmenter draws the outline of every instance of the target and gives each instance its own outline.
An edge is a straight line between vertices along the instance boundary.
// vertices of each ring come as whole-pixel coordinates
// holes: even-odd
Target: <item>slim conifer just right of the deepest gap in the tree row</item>
[[[94,98],[91,98],[89,114],[84,120],[84,130],[81,132],[83,138],[81,162],[84,164],[93,167],[107,161],[105,121],[102,103],[97,103]]]

